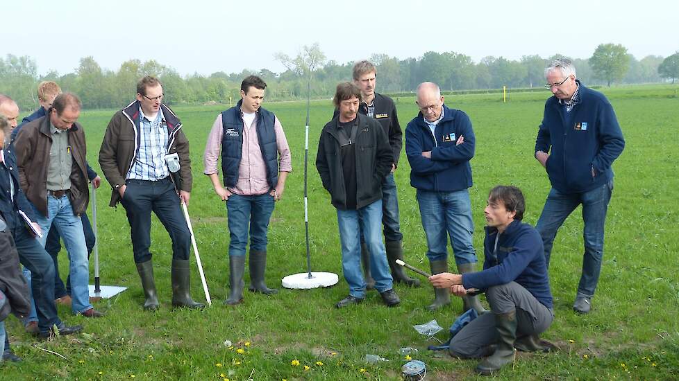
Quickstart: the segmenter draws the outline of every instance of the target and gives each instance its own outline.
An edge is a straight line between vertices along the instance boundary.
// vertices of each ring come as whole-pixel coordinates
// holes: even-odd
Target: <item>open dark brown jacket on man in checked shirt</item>
[[[167,123],[169,140],[167,153],[179,155],[181,169],[178,176],[171,176],[175,188],[191,191],[193,177],[191,175],[191,158],[189,156],[189,141],[181,130],[182,124],[176,114],[169,107],[160,105],[162,115]],[[140,145],[139,135],[139,101],[135,100],[124,109],[116,112],[106,127],[106,134],[99,150],[99,166],[103,175],[111,184],[110,206],[120,202],[119,186],[125,184],[125,177],[137,158]]]

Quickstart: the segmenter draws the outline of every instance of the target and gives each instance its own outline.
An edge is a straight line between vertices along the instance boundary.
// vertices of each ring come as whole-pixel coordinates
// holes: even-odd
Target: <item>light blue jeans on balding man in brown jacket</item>
[[[87,287],[87,284],[90,283],[90,263],[87,260],[83,222],[79,216],[73,214],[68,195],[63,195],[58,199],[48,195],[47,217],[42,213],[37,213],[36,222],[43,231],[42,238],[39,238],[42,247],[47,242],[50,227],[58,229],[60,236],[64,238],[64,245],[70,261],[71,308],[76,314],[89,310],[92,308],[90,291]],[[54,300],[54,295],[52,295],[52,300]]]

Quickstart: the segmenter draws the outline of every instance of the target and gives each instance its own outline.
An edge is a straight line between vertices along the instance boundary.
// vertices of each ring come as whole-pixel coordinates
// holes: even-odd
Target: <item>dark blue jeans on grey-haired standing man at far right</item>
[[[535,227],[542,236],[544,257],[549,268],[549,258],[556,233],[564,220],[582,204],[582,221],[585,229],[582,234],[585,240],[585,254],[582,257],[582,275],[578,285],[578,294],[594,296],[596,283],[601,273],[603,260],[603,233],[606,222],[608,202],[613,192],[613,180],[585,193],[561,193],[551,188],[542,209],[542,215]]]

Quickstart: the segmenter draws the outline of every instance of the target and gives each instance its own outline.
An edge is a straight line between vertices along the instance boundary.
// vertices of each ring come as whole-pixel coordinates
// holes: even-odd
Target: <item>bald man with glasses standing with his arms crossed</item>
[[[443,103],[433,82],[417,87],[419,114],[405,127],[405,154],[410,162],[410,184],[417,189],[422,227],[427,236],[427,257],[432,274],[449,272],[448,236],[459,274],[476,271],[471,235],[471,166],[474,132],[469,116]],[[435,288],[430,310],[451,303],[446,288]],[[464,310],[484,312],[478,296],[462,296]]]

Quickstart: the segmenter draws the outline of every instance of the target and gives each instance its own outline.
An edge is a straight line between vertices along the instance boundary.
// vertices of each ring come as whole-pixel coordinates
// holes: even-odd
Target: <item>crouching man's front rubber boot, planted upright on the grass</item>
[[[495,328],[498,339],[495,352],[476,366],[476,371],[483,375],[491,375],[516,358],[514,341],[517,339],[517,313],[495,314]]]

